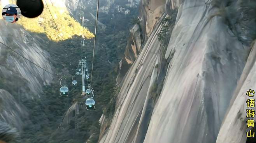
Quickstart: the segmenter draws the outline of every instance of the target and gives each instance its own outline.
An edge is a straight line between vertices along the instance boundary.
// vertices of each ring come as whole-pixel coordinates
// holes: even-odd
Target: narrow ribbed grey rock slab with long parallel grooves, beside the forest
[[[123,86],[117,96],[116,113],[107,133],[100,143],[136,142],[138,126],[141,126],[150,95],[150,87],[158,76],[156,65],[159,63],[160,42],[156,34],[159,26],[149,37],[137,59],[124,77]],[[145,107],[145,108],[144,108]]]

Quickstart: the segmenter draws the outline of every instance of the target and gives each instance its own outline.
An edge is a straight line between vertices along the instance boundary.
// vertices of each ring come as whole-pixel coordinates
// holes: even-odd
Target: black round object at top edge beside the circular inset
[[[42,0],[17,0],[21,14],[28,18],[38,17],[44,10]]]

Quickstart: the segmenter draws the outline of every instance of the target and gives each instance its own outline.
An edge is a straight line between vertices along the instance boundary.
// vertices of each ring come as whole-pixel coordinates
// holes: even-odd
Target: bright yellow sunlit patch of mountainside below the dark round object
[[[27,31],[45,33],[53,41],[66,40],[74,35],[84,36],[86,39],[94,37],[93,33],[70,16],[66,8],[53,5],[48,5],[48,7],[44,7],[39,17],[33,19],[21,17],[18,24],[21,24]],[[53,18],[49,10],[54,14]]]

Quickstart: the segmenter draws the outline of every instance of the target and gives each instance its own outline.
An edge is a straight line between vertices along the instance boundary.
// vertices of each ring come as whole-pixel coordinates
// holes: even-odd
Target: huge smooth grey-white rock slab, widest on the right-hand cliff
[[[165,54],[171,59],[145,143],[214,143],[244,68],[242,45],[216,9],[185,0]],[[231,72],[232,71],[232,72]]]

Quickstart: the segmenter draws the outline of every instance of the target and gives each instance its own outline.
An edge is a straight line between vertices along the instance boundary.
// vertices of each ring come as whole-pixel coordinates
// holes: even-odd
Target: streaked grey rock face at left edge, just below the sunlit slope
[[[29,32],[21,28],[21,26],[6,24],[3,20],[0,21],[0,26],[6,27],[0,29],[0,41],[2,43],[11,47],[16,52],[33,61],[37,65],[46,67],[46,70],[49,72],[53,72],[48,61],[49,53],[42,50],[39,46],[42,43],[35,41],[35,38],[32,37]],[[39,91],[42,90],[42,85],[47,85],[52,80],[51,74],[36,67],[2,44],[0,45],[0,56],[0,66],[2,66],[0,71],[3,73],[2,76],[5,78],[11,78],[17,75],[20,78],[24,78],[33,94],[39,93]],[[16,79],[14,78],[12,80]]]

